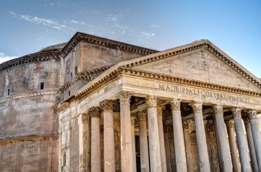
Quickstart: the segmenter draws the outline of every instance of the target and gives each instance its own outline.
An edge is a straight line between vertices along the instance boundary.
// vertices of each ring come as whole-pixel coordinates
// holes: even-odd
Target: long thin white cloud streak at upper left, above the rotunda
[[[60,31],[66,31],[66,30],[75,31],[73,28],[68,27],[67,25],[60,24],[59,22],[53,21],[52,19],[32,17],[32,16],[26,15],[26,14],[16,14],[15,12],[12,12],[12,11],[10,11],[9,13],[12,14],[13,17],[22,19],[23,21],[34,23],[36,25],[44,25],[44,26],[47,26],[49,28],[54,28],[54,29],[60,30]]]

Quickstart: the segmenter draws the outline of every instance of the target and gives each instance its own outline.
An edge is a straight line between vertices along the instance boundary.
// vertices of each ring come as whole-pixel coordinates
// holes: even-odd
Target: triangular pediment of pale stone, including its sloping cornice
[[[215,49],[209,51],[209,41],[202,42],[137,58],[124,63],[124,67],[261,92],[260,80],[256,76],[216,46],[212,45]]]

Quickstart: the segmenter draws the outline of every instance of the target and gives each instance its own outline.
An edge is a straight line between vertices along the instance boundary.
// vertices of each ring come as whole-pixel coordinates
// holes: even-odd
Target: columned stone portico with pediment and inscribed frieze
[[[119,63],[78,90],[73,100],[78,114],[91,116],[91,150],[86,155],[92,171],[237,171],[238,164],[242,171],[251,171],[242,116],[250,119],[260,167],[261,139],[255,120],[261,112],[260,84],[241,76],[230,58],[227,64],[224,55],[217,58],[220,53],[214,56],[216,52],[209,52],[207,45],[194,46],[193,51],[183,47]],[[204,70],[199,72],[204,66],[195,67],[194,75],[170,67],[176,64],[173,61],[182,65],[183,58],[192,61],[192,56],[208,59],[210,68],[215,63],[225,69],[228,74],[221,75],[234,77],[231,85],[218,71],[216,79],[207,78]],[[61,114],[68,109],[62,108]],[[117,132],[113,114],[119,113]],[[119,149],[117,135],[120,158],[114,154]]]

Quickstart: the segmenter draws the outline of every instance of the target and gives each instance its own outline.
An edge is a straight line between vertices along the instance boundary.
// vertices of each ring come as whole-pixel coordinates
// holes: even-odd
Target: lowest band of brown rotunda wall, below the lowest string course
[[[0,144],[0,171],[58,171],[57,148],[53,138]]]

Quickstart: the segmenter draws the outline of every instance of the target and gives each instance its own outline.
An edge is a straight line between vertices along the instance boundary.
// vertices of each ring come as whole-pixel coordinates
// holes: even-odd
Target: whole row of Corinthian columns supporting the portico
[[[134,125],[131,124],[130,110],[131,96],[132,95],[128,92],[122,92],[117,96],[117,98],[120,99],[122,171],[136,171],[135,142],[133,141],[133,139],[135,139],[135,130]],[[146,98],[146,104],[148,107],[147,113],[144,114],[141,112],[137,115],[139,119],[141,171],[167,171],[162,121],[163,107],[157,107],[157,98],[155,96],[148,96],[148,98]],[[173,99],[170,101],[170,105],[172,109],[174,150],[177,171],[188,171],[181,120],[181,100]],[[200,171],[210,171],[203,122],[203,104],[192,103],[190,106],[194,111],[199,168]],[[113,103],[111,100],[104,100],[100,103],[100,107],[102,107],[104,116],[104,171],[115,171]],[[239,169],[239,163],[238,160],[236,160],[236,142],[235,138],[233,138],[234,131],[231,130],[231,127],[228,127],[228,130],[226,129],[223,117],[223,106],[215,105],[213,110],[216,121],[218,150],[220,153],[220,170],[233,171],[233,169]],[[241,169],[242,171],[251,171],[249,156],[247,153],[247,140],[245,140],[245,134],[242,127],[241,109],[233,108],[231,111],[234,116],[234,126],[236,140],[238,142]],[[100,171],[100,108],[92,107],[89,109],[89,114],[91,115],[91,171]],[[261,140],[256,114],[255,110],[249,111],[251,132],[253,135],[252,139],[258,162],[258,169],[261,171]],[[148,158],[146,115],[148,120],[150,158]],[[229,123],[229,125],[231,126],[231,123]],[[227,132],[229,140],[227,140]],[[150,160],[150,166],[148,160]]]

